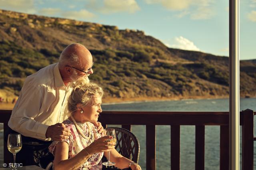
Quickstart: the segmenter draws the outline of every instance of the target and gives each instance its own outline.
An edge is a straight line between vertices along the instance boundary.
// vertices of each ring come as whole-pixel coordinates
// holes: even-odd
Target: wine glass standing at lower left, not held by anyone
[[[15,158],[16,158],[16,153],[20,151],[21,147],[22,147],[22,141],[21,141],[20,134],[17,134],[17,133],[8,134],[7,148],[13,154],[12,170],[17,170],[15,167]]]

